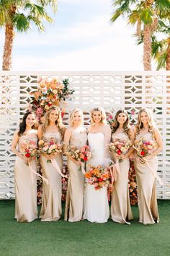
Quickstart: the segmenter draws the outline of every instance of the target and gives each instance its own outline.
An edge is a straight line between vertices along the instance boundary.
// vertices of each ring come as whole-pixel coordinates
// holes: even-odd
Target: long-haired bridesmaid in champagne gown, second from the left
[[[61,111],[58,107],[52,106],[45,114],[44,123],[40,125],[37,132],[39,140],[62,142],[65,127],[62,123]],[[41,221],[58,221],[61,218],[61,174],[58,173],[52,163],[47,163],[48,159],[55,159],[59,168],[63,168],[62,154],[40,155],[42,166],[42,176],[48,179],[42,185],[42,208],[40,211]]]

